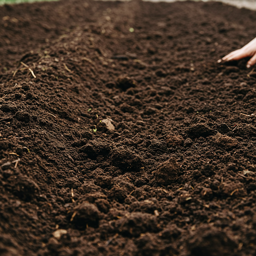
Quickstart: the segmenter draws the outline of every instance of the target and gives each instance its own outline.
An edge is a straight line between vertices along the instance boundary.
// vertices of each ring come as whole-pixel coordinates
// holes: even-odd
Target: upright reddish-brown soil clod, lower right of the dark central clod
[[[155,172],[155,180],[161,184],[170,184],[177,177],[178,172],[179,164],[174,157],[171,157],[158,166]]]

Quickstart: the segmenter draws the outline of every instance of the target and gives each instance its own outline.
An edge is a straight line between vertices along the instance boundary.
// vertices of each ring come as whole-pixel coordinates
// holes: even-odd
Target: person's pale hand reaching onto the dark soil
[[[256,37],[240,49],[234,50],[219,59],[218,63],[221,61],[238,60],[245,57],[251,57],[246,64],[247,68],[256,63]]]

